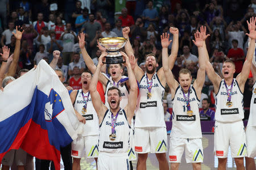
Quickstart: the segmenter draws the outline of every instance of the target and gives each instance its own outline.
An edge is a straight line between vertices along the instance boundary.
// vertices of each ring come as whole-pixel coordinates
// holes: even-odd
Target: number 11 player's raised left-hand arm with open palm
[[[170,35],[167,33],[163,33],[161,37],[161,44],[162,44],[162,62],[163,62],[163,71],[164,76],[166,77],[166,82],[168,86],[171,88],[172,97],[174,97],[175,90],[179,86],[179,83],[175,80],[174,75],[172,74],[171,69],[169,68],[168,63],[168,46],[171,43],[171,40],[169,41]]]

